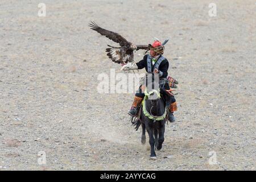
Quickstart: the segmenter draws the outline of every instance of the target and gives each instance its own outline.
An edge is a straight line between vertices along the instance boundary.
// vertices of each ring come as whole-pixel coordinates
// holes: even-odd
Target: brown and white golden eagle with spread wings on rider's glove
[[[128,62],[133,62],[133,57],[134,57],[134,51],[137,51],[139,49],[145,49],[145,50],[150,50],[151,45],[135,45],[131,42],[128,42],[125,38],[123,38],[123,36],[106,30],[104,28],[99,27],[96,23],[91,22],[89,23],[89,27],[92,30],[97,31],[98,33],[100,33],[101,35],[106,36],[107,38],[109,38],[110,40],[113,40],[116,43],[119,43],[119,45],[121,47],[113,47],[113,46],[109,46],[110,48],[106,48],[106,52],[108,52],[108,56],[109,58],[115,62],[115,63],[128,63]]]

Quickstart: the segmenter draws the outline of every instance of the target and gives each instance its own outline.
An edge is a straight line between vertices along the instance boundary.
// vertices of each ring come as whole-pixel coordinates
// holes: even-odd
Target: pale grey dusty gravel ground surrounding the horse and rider
[[[255,170],[255,10],[249,0],[2,0],[0,170]],[[120,66],[90,20],[134,43],[170,39],[179,111],[156,161],[128,121],[133,94],[97,93],[98,74]]]

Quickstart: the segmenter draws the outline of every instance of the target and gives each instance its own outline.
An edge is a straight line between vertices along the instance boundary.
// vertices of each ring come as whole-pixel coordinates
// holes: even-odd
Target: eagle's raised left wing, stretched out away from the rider
[[[128,45],[131,44],[125,38],[123,38],[123,36],[121,36],[121,35],[119,35],[115,32],[112,32],[112,31],[106,30],[104,28],[101,28],[95,22],[89,23],[89,26],[92,30],[97,31],[101,35],[106,36],[107,38],[109,38],[110,40],[113,40],[116,43],[119,43],[119,45],[122,46],[122,47],[123,46],[128,46]]]

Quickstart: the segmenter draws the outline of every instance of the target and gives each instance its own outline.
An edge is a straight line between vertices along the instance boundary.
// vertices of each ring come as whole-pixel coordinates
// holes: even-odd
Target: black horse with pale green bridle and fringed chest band
[[[142,144],[146,143],[147,130],[151,148],[150,159],[156,160],[155,148],[156,150],[161,150],[164,142],[165,124],[166,121],[168,121],[166,118],[168,115],[168,104],[167,100],[164,100],[164,94],[166,93],[163,88],[148,89],[148,85],[151,85],[150,88],[154,88],[156,83],[154,74],[152,74],[152,82],[148,82],[148,79],[146,80],[147,84],[144,89],[145,96],[141,106],[141,114],[140,117],[133,122],[133,125],[136,130],[138,130],[139,126],[142,126]],[[166,98],[168,98],[168,96]]]

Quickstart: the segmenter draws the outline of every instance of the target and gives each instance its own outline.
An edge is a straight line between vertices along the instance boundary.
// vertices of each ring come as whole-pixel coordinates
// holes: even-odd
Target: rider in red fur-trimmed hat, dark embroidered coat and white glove
[[[168,63],[168,60],[162,56],[163,52],[164,52],[164,46],[162,46],[162,44],[158,40],[156,40],[150,48],[150,53],[148,55],[145,55],[143,57],[143,60],[139,61],[136,64],[128,63],[126,65],[123,65],[122,69],[127,70],[127,69],[145,68],[147,73],[159,73],[160,78],[166,78],[168,76],[167,71],[169,68],[169,63]],[[164,87],[166,87],[166,85]],[[169,85],[167,85],[167,87],[169,88]],[[168,118],[170,122],[174,122],[175,121],[174,111],[177,110],[177,105],[176,105],[176,100],[174,96],[170,95],[170,97],[171,97],[171,105],[169,107],[170,112],[169,112]],[[143,98],[144,98],[144,93],[142,92],[142,88],[140,86],[139,92],[135,94],[133,105],[131,106],[131,109],[128,111],[129,115],[135,116],[137,114],[137,110],[141,105]]]

